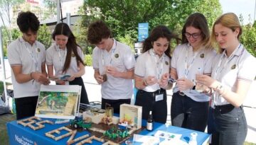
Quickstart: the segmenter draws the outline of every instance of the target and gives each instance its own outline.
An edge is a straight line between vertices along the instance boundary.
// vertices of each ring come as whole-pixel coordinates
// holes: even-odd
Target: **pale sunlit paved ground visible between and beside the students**
[[[11,83],[11,68],[9,66],[8,61],[5,59],[5,69],[6,69],[6,82]],[[1,81],[3,80],[3,71],[0,69],[1,74]],[[85,75],[82,76],[83,81],[85,82],[85,88],[87,91],[87,95],[89,98],[89,101],[100,101],[101,100],[101,93],[100,89],[101,86],[97,84],[97,81],[94,79],[94,70],[91,66],[86,66],[85,68]],[[52,82],[53,83],[53,82]],[[53,83],[54,84],[54,83]],[[246,141],[256,143],[256,81],[253,82],[251,86],[251,91],[248,93],[247,99],[245,100],[244,105],[252,107],[252,108],[245,108],[245,115],[247,118],[247,124],[248,124],[248,132],[247,132],[247,139]],[[167,104],[168,104],[168,114],[170,115],[171,111],[171,95],[172,91],[167,91]],[[167,120],[170,122],[170,116],[168,116]]]

